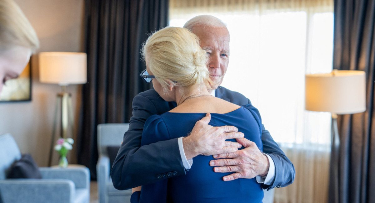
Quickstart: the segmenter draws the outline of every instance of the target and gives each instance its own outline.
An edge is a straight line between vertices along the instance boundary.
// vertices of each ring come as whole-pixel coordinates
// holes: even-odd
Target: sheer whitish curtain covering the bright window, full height
[[[275,202],[327,202],[329,113],[305,110],[305,74],[332,70],[333,0],[170,0],[169,25],[210,14],[231,35],[222,86],[248,97],[296,168]]]

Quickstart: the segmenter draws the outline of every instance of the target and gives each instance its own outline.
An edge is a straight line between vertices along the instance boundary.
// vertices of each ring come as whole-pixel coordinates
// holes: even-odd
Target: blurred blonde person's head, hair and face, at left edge
[[[7,80],[22,73],[38,47],[36,32],[20,7],[0,0],[0,92]]]

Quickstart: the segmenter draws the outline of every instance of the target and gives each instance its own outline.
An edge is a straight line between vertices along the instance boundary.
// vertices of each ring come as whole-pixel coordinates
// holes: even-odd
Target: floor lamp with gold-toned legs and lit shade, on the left
[[[72,98],[66,92],[69,84],[84,84],[87,81],[87,55],[76,52],[40,52],[39,80],[42,83],[58,84],[62,92],[57,93],[54,124],[52,129],[51,146],[48,165],[51,166],[52,152],[55,144],[57,120],[59,120],[59,137],[73,137]],[[58,110],[59,109],[59,110]],[[60,112],[60,116],[58,114]]]

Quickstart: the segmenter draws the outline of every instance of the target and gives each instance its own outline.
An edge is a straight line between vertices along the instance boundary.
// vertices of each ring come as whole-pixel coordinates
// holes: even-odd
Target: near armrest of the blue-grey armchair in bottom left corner
[[[6,179],[0,180],[0,195],[4,203],[72,203],[75,188],[71,180]]]

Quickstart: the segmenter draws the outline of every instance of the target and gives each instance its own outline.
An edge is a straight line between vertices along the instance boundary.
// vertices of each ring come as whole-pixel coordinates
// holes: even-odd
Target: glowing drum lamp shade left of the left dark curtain
[[[39,80],[59,85],[87,82],[87,55],[77,52],[40,52]]]

